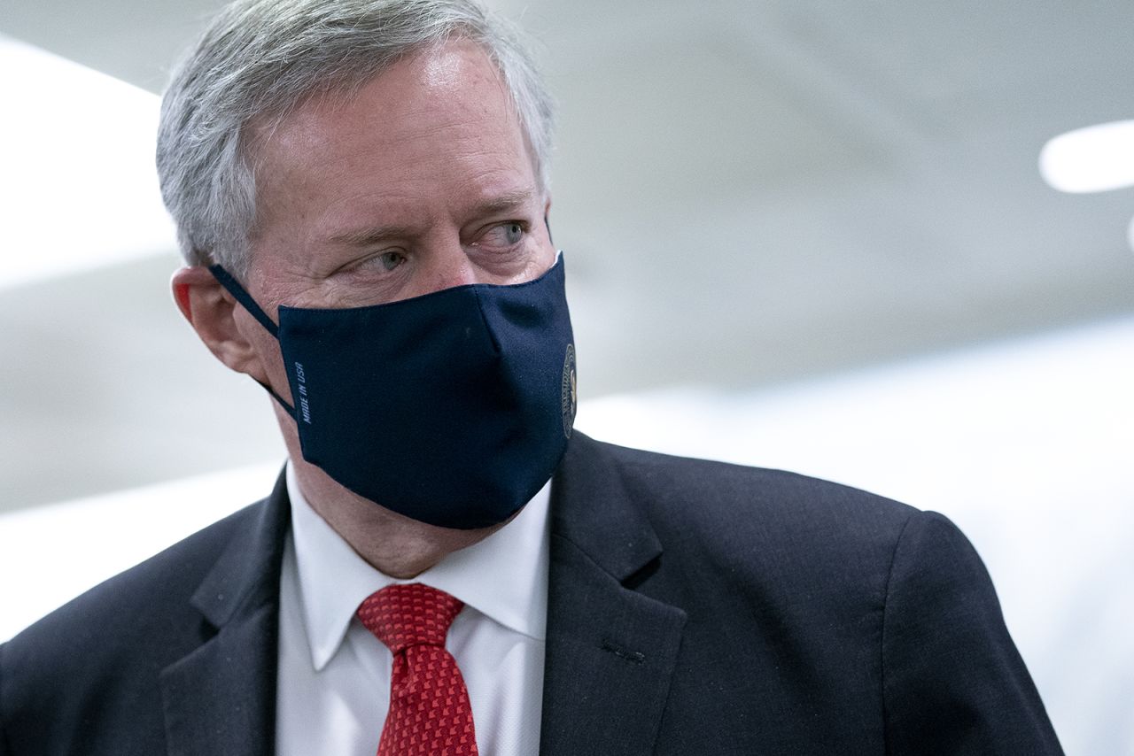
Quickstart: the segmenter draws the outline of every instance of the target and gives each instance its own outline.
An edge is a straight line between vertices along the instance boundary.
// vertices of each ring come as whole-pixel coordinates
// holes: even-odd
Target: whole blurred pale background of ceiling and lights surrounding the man
[[[220,5],[0,5],[0,640],[282,460],[168,292],[156,93]],[[1039,167],[1134,118],[1134,5],[490,5],[560,103],[578,427],[945,512],[1067,753],[1134,754],[1134,137]]]

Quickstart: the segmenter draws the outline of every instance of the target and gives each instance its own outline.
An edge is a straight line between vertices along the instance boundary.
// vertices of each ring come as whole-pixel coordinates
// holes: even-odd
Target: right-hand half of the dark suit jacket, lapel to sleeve
[[[652,751],[613,747],[593,720],[556,732],[551,714],[576,753],[1059,753],[991,581],[943,516],[585,438],[558,482],[549,689],[585,696],[576,670],[609,669],[560,666],[568,645],[666,668],[654,729],[623,727]],[[601,617],[559,613],[572,604]],[[565,630],[579,621],[593,629]]]

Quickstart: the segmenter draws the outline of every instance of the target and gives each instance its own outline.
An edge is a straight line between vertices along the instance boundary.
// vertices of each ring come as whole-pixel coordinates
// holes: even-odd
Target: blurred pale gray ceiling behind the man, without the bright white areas
[[[0,32],[159,91],[219,5],[8,0]],[[543,41],[560,101],[552,224],[584,397],[1134,309],[1134,190],[1061,195],[1036,172],[1051,136],[1134,116],[1134,3],[492,5]],[[66,209],[58,232],[82,238]],[[176,264],[0,291],[0,509],[281,455],[269,400],[180,322]]]

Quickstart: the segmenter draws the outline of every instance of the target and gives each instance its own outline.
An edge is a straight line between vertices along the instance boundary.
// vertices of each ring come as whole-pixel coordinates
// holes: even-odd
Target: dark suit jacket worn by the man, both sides
[[[576,434],[551,518],[542,754],[1060,753],[940,515]],[[0,646],[0,755],[271,754],[288,525],[281,481]]]

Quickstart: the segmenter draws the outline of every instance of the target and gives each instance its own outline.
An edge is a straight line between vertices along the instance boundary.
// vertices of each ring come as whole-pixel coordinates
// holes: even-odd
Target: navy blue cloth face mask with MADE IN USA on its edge
[[[525,283],[281,306],[279,325],[209,270],[279,340],[295,406],[268,390],[295,418],[303,458],[358,495],[430,525],[485,527],[559,465],[575,421],[561,255]]]

